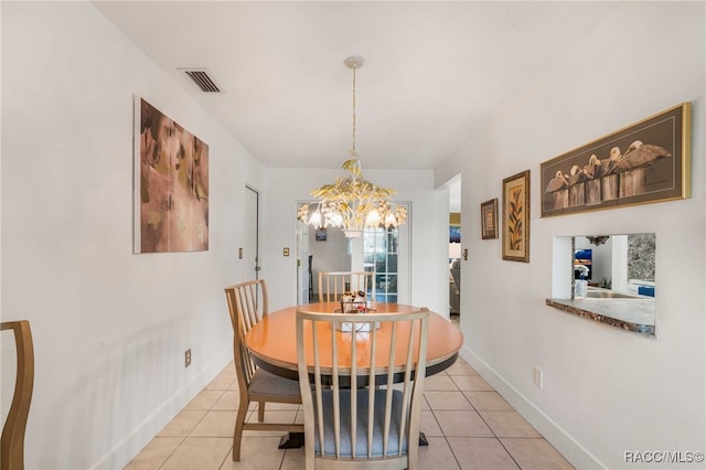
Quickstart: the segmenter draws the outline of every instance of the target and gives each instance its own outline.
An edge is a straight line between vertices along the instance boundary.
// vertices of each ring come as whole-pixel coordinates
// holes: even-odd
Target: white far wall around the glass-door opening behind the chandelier
[[[394,188],[396,201],[411,202],[411,214],[407,220],[411,226],[413,259],[409,302],[448,316],[448,192],[434,191],[434,172],[430,170],[366,170],[365,158],[362,157],[361,161],[366,179]],[[269,227],[263,243],[263,277],[268,280],[270,310],[291,305],[296,299],[297,260],[292,256],[284,257],[282,248],[290,247],[290,253],[295,253],[297,202],[310,201],[312,189],[333,181],[343,171],[267,170],[265,218]]]

